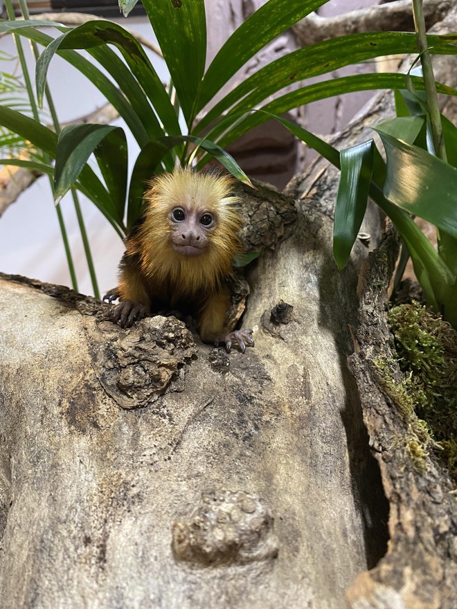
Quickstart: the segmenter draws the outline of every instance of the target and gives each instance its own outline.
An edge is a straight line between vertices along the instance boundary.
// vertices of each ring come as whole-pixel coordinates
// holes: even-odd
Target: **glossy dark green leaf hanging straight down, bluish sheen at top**
[[[341,178],[335,203],[333,255],[339,270],[346,266],[366,211],[375,143],[364,142],[339,153]]]

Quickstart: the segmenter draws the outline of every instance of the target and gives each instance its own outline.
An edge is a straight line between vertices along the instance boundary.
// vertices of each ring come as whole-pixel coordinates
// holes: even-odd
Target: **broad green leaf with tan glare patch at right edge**
[[[375,127],[387,156],[386,199],[457,237],[457,169]]]

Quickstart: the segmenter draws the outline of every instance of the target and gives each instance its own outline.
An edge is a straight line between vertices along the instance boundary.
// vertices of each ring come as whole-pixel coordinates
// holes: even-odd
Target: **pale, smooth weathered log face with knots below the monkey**
[[[335,271],[325,216],[294,227],[251,278],[257,345],[229,367],[174,320],[123,331],[2,281],[4,606],[337,608],[382,556],[346,365],[357,274]]]

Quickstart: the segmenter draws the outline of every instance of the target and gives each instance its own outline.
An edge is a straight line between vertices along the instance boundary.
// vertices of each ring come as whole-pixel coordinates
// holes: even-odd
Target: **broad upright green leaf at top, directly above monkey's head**
[[[190,126],[206,62],[204,0],[143,0]]]

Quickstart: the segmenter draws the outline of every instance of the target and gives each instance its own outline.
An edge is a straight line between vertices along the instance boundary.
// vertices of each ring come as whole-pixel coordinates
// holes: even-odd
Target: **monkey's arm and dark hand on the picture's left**
[[[121,265],[118,287],[105,294],[103,300],[112,302],[116,298],[120,302],[111,309],[110,317],[120,327],[131,327],[134,321],[143,319],[149,312],[150,300],[138,265],[125,262]]]

